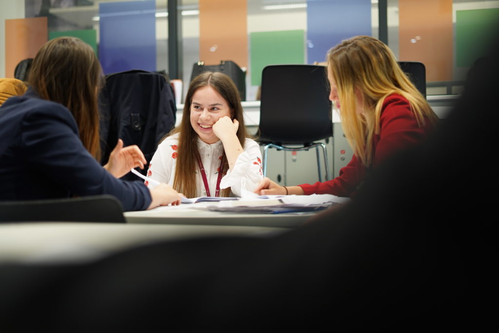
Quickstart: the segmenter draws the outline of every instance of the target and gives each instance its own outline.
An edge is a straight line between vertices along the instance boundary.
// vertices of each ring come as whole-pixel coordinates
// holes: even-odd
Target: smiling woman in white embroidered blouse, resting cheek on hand
[[[260,148],[249,137],[234,82],[205,72],[191,82],[182,123],[159,144],[148,175],[188,198],[241,196],[262,179]]]

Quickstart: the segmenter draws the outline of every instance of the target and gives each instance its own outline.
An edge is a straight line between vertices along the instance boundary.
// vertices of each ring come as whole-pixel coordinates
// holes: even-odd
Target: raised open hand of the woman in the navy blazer
[[[136,145],[123,148],[123,140],[118,139],[118,144],[109,155],[109,161],[104,169],[116,178],[123,177],[130,169],[141,168],[147,163],[144,154]]]

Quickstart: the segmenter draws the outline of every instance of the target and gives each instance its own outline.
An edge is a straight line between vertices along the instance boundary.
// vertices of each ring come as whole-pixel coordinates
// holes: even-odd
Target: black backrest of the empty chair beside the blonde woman
[[[317,65],[270,65],[261,74],[259,141],[309,144],[332,136],[327,73]]]

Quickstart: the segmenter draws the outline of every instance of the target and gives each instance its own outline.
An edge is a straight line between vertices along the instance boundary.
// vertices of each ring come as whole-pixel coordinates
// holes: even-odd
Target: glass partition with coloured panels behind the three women
[[[388,46],[399,60],[425,63],[427,93],[459,93],[473,59],[480,56],[483,45],[478,42],[493,32],[493,23],[499,17],[499,1],[380,1],[386,1],[388,8]],[[145,3],[152,6],[144,7]],[[184,93],[193,65],[205,61],[203,58],[214,62],[206,64],[216,64],[239,57],[235,61],[241,62],[238,64],[246,71],[246,99],[255,100],[264,65],[323,61],[327,48],[342,38],[360,33],[374,37],[379,34],[378,0],[176,0],[176,3],[181,37],[178,78],[184,82]],[[115,9],[106,11],[109,7]],[[48,39],[63,34],[84,39],[94,47],[108,71],[143,67],[168,73],[167,8],[167,0],[25,0],[25,17],[47,17]],[[139,16],[144,20],[138,20]],[[106,25],[111,21],[114,23]],[[149,28],[145,29],[146,26]],[[130,27],[144,29],[134,34],[128,30]],[[210,39],[213,37],[210,31],[215,39]],[[117,39],[121,40],[121,46],[115,43]],[[154,45],[146,45],[151,40]],[[125,46],[130,48],[126,52],[120,49]],[[243,56],[234,55],[236,51],[243,52]],[[114,57],[119,62],[119,55],[125,53],[142,62],[106,65]]]

